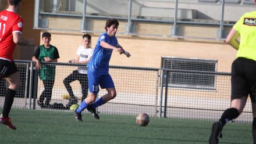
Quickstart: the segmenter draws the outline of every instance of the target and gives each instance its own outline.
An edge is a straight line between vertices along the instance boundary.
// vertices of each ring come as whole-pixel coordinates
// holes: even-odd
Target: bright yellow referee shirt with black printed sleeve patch
[[[256,61],[256,11],[244,13],[233,28],[240,33],[237,57]]]

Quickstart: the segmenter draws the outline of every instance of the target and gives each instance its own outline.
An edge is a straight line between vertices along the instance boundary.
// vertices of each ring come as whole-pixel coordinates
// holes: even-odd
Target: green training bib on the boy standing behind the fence
[[[45,48],[43,45],[39,46],[39,56],[38,60],[44,62],[44,57],[50,57],[51,59],[57,59],[54,55],[56,47],[51,45],[51,48]],[[57,51],[58,52],[58,51]],[[52,64],[42,64],[40,69],[40,80],[54,80],[55,79],[55,69],[56,66]]]

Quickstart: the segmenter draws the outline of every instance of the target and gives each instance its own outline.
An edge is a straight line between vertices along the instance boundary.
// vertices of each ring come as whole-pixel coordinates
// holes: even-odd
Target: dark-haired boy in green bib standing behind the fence
[[[40,70],[40,80],[44,84],[44,91],[42,91],[37,104],[41,107],[49,106],[49,102],[51,101],[52,97],[52,88],[54,87],[54,80],[55,80],[55,69],[56,66],[43,64],[41,65],[40,62],[58,62],[59,59],[59,52],[55,46],[50,44],[51,41],[51,34],[50,33],[43,33],[42,34],[42,41],[44,42],[43,45],[38,46],[35,50],[35,53],[32,57],[32,60],[36,62],[35,67],[37,70]],[[44,103],[45,99],[45,103]]]

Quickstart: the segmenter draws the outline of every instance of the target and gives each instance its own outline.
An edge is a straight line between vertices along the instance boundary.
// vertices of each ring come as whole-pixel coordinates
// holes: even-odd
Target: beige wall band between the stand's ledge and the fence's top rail
[[[81,45],[81,33],[52,33],[51,44],[59,50],[59,62],[67,62],[76,55]],[[90,33],[91,34],[91,33]],[[94,48],[98,34],[91,34]],[[191,39],[138,37],[117,35],[119,44],[131,53],[131,57],[113,52],[111,65],[136,67],[161,67],[162,56],[218,60],[218,71],[230,72],[236,58],[236,50],[220,41],[196,41]]]

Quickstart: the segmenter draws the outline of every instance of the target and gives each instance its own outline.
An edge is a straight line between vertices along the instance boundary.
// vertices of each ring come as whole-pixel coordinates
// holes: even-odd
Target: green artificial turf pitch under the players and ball
[[[2,111],[2,109],[0,109]],[[76,121],[72,111],[12,109],[17,130],[0,125],[0,143],[208,143],[212,121],[150,117],[147,127],[135,116],[83,113]],[[251,124],[229,123],[219,143],[253,143]]]

